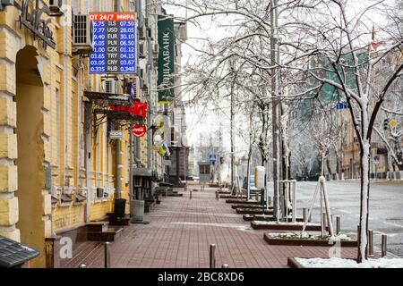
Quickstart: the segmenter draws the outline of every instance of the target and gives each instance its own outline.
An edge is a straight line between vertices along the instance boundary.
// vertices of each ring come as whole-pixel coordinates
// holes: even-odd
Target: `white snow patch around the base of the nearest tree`
[[[345,258],[296,258],[304,267],[310,268],[403,268],[403,258],[369,259],[357,264],[354,259]]]

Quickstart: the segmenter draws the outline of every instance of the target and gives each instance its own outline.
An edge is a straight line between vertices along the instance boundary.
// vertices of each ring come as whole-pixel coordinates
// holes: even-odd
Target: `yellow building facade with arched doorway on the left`
[[[38,249],[32,266],[46,267],[48,238],[113,210],[116,170],[129,200],[130,136],[109,139],[107,121],[91,112],[84,91],[103,92],[105,80],[74,54],[69,13],[42,14],[56,44],[45,47],[19,22],[24,1],[14,2],[0,12],[0,235]],[[113,12],[116,3],[128,11],[129,1],[64,1],[74,13]]]

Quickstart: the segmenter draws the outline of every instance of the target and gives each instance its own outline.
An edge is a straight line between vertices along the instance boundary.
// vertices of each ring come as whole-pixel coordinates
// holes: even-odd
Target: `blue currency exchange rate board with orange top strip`
[[[90,13],[90,73],[136,73],[136,13]]]

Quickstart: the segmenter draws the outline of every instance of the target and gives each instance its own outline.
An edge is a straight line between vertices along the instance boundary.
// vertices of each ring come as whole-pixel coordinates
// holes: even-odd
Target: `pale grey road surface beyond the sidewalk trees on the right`
[[[297,183],[297,208],[309,207],[313,199],[316,182]],[[356,233],[359,223],[360,190],[358,181],[327,182],[330,212],[341,216],[341,231]],[[270,193],[272,196],[272,193]],[[320,221],[320,198],[316,199],[313,221]],[[403,184],[375,183],[370,189],[369,227],[374,232],[375,248],[381,248],[381,234],[388,235],[388,251],[403,257]],[[375,249],[376,251],[376,249]]]

